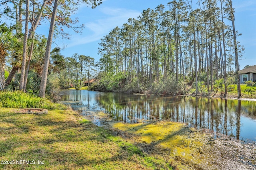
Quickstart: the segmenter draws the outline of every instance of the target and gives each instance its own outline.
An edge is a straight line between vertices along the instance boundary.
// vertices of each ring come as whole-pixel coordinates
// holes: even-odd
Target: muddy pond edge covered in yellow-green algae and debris
[[[255,143],[200,132],[184,123],[157,120],[135,124],[114,122],[102,111],[95,111],[85,118],[112,129],[113,133],[131,141],[147,154],[173,160],[176,169],[256,170]]]

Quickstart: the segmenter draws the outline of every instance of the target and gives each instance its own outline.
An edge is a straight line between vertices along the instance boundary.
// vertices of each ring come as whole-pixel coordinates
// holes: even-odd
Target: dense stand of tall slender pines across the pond
[[[137,19],[130,18],[104,36],[98,88],[145,92],[161,85],[166,87],[162,92],[177,94],[178,84],[186,82],[194,83],[197,95],[202,81],[210,92],[215,80],[223,78],[226,96],[227,73],[234,71],[239,98],[238,58],[243,47],[236,41],[232,1],[193,3],[174,0],[143,10]]]

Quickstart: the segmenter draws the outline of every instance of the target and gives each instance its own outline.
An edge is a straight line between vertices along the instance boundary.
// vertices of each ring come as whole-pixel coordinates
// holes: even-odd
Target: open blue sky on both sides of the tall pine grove
[[[142,10],[155,9],[159,4],[167,6],[170,1],[103,0],[103,3],[95,9],[82,5],[74,17],[78,17],[80,23],[85,24],[83,33],[74,33],[69,30],[72,34],[70,40],[56,39],[55,43],[61,48],[66,47],[61,52],[65,57],[78,53],[78,55],[94,57],[95,61],[98,61],[100,59],[98,55],[100,38],[107,35],[114,27],[122,27],[129,18],[137,18]],[[256,0],[233,0],[233,7],[235,8],[236,30],[242,33],[238,41],[245,48],[242,60],[239,61],[240,68],[243,69],[246,65],[256,64]],[[42,28],[47,29],[47,27]]]

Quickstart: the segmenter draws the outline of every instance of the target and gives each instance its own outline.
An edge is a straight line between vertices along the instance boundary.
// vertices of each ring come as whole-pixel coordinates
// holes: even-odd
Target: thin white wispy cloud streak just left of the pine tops
[[[72,42],[68,43],[68,47],[98,41],[114,27],[122,27],[129,18],[137,18],[140,15],[138,11],[124,8],[101,8],[100,13],[101,19],[85,23],[86,29],[82,35],[72,35]]]

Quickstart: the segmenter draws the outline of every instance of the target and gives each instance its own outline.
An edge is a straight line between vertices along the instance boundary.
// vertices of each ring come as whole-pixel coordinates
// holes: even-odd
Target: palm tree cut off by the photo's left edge
[[[11,48],[16,45],[18,39],[15,37],[13,30],[16,30],[16,25],[7,26],[6,23],[0,25],[0,90],[4,89],[4,70],[6,57]]]

